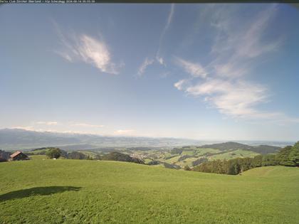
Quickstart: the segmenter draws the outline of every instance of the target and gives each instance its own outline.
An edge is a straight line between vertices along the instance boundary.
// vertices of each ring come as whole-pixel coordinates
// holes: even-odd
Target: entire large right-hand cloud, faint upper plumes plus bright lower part
[[[205,102],[229,117],[298,122],[298,119],[282,112],[258,110],[258,105],[268,102],[268,87],[246,79],[258,59],[278,50],[281,44],[280,37],[271,41],[263,38],[271,18],[276,14],[276,5],[260,11],[253,21],[240,24],[237,24],[238,20],[232,11],[226,13],[221,6],[217,13],[215,10],[218,8],[212,8],[214,13],[209,19],[211,29],[216,32],[211,45],[213,59],[205,66],[177,59],[177,65],[184,68],[192,78],[189,82],[179,80],[174,86],[189,95],[203,97]]]

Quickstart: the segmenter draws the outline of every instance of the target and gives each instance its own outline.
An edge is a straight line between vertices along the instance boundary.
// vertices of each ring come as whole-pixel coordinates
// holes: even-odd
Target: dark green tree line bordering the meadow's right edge
[[[240,174],[248,169],[260,166],[299,166],[299,142],[285,146],[278,154],[258,155],[230,160],[206,161],[192,170],[214,174]],[[185,169],[188,170],[188,169]]]

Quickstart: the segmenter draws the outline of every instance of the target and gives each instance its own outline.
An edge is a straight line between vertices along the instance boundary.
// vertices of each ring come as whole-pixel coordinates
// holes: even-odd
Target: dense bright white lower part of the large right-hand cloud
[[[263,119],[263,121],[277,124],[299,122],[298,118],[288,117],[283,112],[256,109],[257,105],[268,102],[268,89],[254,82],[211,79],[190,85],[185,92],[189,95],[204,97],[204,101],[209,105],[235,119]]]

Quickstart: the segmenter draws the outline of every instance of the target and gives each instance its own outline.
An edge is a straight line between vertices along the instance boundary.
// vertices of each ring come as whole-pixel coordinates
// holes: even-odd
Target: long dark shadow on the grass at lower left
[[[28,188],[19,191],[11,191],[0,195],[1,201],[8,201],[16,198],[27,198],[30,196],[48,196],[54,193],[61,193],[64,191],[80,191],[80,187],[74,186],[46,186],[37,188]]]

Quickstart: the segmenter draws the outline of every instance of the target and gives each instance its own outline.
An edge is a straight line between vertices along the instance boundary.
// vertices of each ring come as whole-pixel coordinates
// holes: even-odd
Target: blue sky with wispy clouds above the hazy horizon
[[[299,140],[290,4],[7,4],[0,21],[0,128]]]

